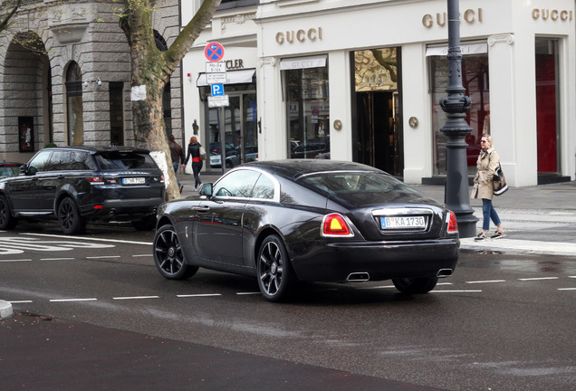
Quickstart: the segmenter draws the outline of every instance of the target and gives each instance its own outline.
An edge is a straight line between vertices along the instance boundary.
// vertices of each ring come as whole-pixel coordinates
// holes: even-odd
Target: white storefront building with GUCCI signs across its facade
[[[462,81],[473,101],[469,173],[480,138],[490,134],[512,186],[573,180],[574,2],[470,0],[460,12]],[[445,0],[262,1],[234,18],[217,16],[202,42],[223,43],[231,48],[225,60],[243,59],[254,70],[254,110],[246,114],[254,123],[240,139],[232,134],[233,147],[248,138],[259,159],[353,160],[410,184],[444,183]],[[233,20],[244,21],[242,28],[220,28],[216,36],[216,27]],[[203,72],[202,49],[184,63],[191,81]],[[202,88],[185,85],[186,131],[198,132],[191,127],[197,119],[201,137],[214,142]]]

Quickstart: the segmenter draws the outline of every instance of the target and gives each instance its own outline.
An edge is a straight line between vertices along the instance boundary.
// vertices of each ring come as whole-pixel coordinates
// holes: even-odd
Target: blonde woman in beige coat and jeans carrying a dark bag
[[[475,240],[485,240],[488,229],[490,228],[490,220],[496,225],[496,232],[491,237],[493,239],[501,238],[504,236],[504,229],[500,223],[500,217],[494,210],[492,205],[492,198],[494,196],[494,186],[492,185],[492,177],[498,164],[500,164],[500,157],[492,147],[492,137],[488,135],[482,136],[480,140],[482,152],[476,161],[476,176],[474,177],[474,187],[472,188],[472,198],[482,198],[482,215],[484,222],[482,223],[482,232],[475,237]]]

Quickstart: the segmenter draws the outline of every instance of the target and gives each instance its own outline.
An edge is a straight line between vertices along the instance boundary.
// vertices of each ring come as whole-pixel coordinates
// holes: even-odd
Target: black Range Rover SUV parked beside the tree
[[[44,148],[18,176],[0,179],[0,229],[52,218],[64,234],[82,233],[88,220],[148,230],[164,195],[164,176],[146,149]]]

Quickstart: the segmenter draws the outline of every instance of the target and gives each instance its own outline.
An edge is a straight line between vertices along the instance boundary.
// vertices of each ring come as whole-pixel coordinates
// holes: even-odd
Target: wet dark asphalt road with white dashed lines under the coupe
[[[245,277],[200,270],[188,281],[163,279],[152,235],[89,226],[82,237],[62,237],[51,224],[0,233],[0,299],[40,315],[0,327],[3,346],[12,341],[12,350],[0,350],[0,373],[11,374],[13,389],[58,389],[37,385],[66,378],[58,376],[62,367],[14,365],[23,352],[36,362],[82,357],[79,369],[107,375],[75,377],[82,386],[66,389],[104,389],[106,379],[115,385],[110,377],[149,379],[123,389],[158,389],[162,376],[171,385],[163,389],[561,391],[576,384],[571,257],[466,251],[455,275],[427,295],[399,294],[389,281],[317,283],[274,304]],[[59,328],[71,330],[70,339]],[[60,343],[46,346],[51,330]],[[36,347],[40,356],[31,356]],[[108,354],[92,353],[101,350]],[[15,387],[24,376],[40,383]]]

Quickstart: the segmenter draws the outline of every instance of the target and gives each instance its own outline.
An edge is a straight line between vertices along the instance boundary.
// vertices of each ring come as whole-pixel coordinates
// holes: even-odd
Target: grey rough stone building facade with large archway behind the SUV
[[[44,0],[27,5],[0,33],[0,158],[26,162],[48,143],[133,144],[130,48],[117,6]],[[153,27],[158,48],[168,47],[179,32],[178,1],[159,5]],[[178,140],[181,110],[178,68],[164,113]]]

